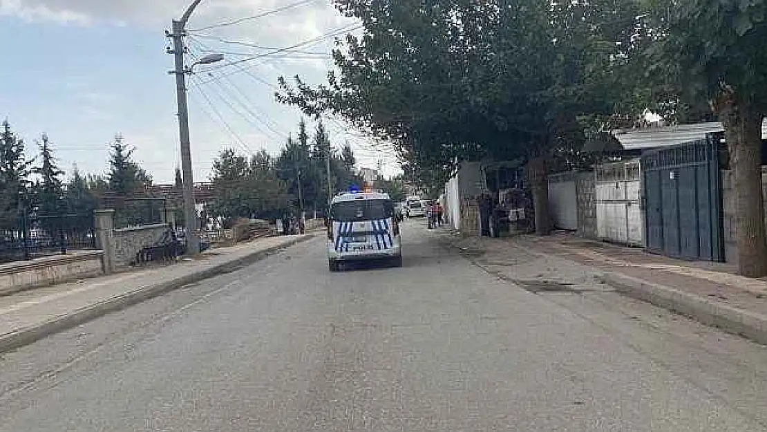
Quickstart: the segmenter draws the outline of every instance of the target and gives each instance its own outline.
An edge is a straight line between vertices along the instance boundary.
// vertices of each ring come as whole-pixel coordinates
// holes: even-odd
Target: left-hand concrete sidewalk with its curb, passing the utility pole
[[[199,259],[0,297],[0,353],[184,285],[231,272],[313,235],[257,239]]]

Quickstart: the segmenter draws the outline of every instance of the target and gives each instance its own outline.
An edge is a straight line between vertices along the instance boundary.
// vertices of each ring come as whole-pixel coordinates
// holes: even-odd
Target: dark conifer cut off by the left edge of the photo
[[[34,160],[27,160],[24,141],[16,137],[8,120],[0,133],[0,226],[18,226],[28,207],[29,176]]]

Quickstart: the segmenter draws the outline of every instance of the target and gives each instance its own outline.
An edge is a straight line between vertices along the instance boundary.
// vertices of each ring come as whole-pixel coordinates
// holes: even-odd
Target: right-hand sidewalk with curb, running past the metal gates
[[[453,239],[452,244],[477,264],[489,263],[494,271],[512,256],[527,254],[526,265],[540,275],[549,269],[561,275],[560,282],[576,278],[580,284],[588,283],[589,290],[608,287],[767,344],[767,281],[736,275],[733,265],[655,256],[561,232],[547,237]],[[536,264],[532,256],[545,260]]]

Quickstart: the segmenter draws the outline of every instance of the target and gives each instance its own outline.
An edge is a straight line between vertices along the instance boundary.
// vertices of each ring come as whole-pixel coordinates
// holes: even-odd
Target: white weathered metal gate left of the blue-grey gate
[[[608,242],[644,246],[640,161],[603,163],[594,176],[597,236]]]

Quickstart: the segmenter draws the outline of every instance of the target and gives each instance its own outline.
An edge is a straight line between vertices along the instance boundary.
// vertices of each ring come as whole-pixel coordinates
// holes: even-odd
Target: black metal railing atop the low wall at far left
[[[88,249],[96,249],[93,215],[25,213],[16,226],[0,228],[0,262]]]

